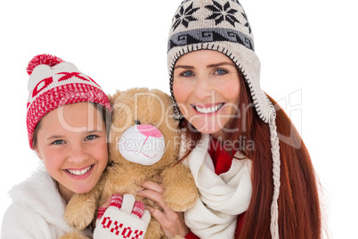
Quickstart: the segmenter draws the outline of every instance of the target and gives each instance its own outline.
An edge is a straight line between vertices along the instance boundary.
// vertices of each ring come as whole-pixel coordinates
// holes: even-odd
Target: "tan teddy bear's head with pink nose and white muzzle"
[[[175,161],[180,130],[169,95],[158,89],[134,88],[118,91],[110,101],[110,161],[155,168]]]

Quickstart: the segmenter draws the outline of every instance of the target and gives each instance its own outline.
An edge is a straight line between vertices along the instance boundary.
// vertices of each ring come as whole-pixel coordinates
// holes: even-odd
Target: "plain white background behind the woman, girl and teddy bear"
[[[0,218],[7,192],[36,169],[28,147],[26,67],[36,54],[74,62],[108,94],[168,93],[167,33],[181,0],[0,0]],[[357,8],[352,0],[241,0],[262,87],[285,108],[321,180],[327,235],[357,227]]]

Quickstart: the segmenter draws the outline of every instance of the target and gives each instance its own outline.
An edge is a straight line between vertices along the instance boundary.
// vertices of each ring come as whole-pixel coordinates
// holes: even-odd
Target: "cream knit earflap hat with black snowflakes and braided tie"
[[[203,49],[221,52],[232,59],[250,89],[258,116],[270,126],[274,184],[271,233],[273,239],[279,238],[280,146],[275,126],[276,112],[260,87],[260,61],[254,51],[248,17],[238,0],[184,0],[176,10],[167,45],[170,92],[176,119],[183,115],[173,94],[175,62],[183,54]]]

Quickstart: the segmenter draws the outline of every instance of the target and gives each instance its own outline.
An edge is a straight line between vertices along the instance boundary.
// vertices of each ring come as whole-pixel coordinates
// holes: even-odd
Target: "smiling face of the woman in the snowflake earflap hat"
[[[237,117],[241,75],[226,55],[200,50],[175,63],[173,91],[180,111],[201,133],[219,137]]]

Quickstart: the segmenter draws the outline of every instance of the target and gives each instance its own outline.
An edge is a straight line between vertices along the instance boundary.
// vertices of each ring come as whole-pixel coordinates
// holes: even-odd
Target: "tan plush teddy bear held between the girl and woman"
[[[163,185],[163,199],[172,210],[188,210],[199,198],[190,169],[178,161],[181,133],[170,96],[159,89],[133,88],[117,91],[110,103],[109,165],[92,191],[69,201],[65,219],[78,231],[61,238],[86,238],[79,231],[94,225],[99,206],[112,194],[133,194],[135,201],[159,209],[137,195],[146,180]],[[155,218],[144,238],[165,238]]]

